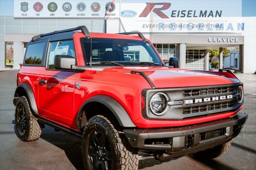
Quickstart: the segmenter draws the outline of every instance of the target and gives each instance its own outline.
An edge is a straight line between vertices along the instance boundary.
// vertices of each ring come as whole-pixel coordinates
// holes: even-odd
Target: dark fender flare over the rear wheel
[[[28,103],[30,105],[30,109],[31,109],[33,115],[39,115],[37,106],[36,106],[36,100],[34,97],[34,93],[28,83],[22,83],[16,87],[15,93],[14,93],[14,99],[13,99],[14,106],[16,106],[18,97],[21,97],[21,96],[19,96],[19,91],[22,89],[26,92],[26,95],[28,97]]]

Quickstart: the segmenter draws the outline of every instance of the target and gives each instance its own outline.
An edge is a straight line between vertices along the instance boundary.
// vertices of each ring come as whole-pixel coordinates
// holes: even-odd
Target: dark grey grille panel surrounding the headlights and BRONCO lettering
[[[185,88],[169,88],[169,89],[144,89],[142,95],[145,97],[145,109],[142,115],[145,119],[191,119],[202,117],[204,115],[213,115],[217,113],[226,113],[228,111],[237,110],[242,104],[238,103],[236,96],[230,99],[207,101],[195,103],[195,99],[212,98],[227,95],[236,95],[238,87],[243,86],[242,83],[228,85],[214,85],[204,87],[185,87]],[[183,101],[182,105],[172,105],[169,111],[162,116],[156,116],[150,111],[150,98],[158,92],[166,93],[171,101]],[[193,100],[192,104],[185,104],[186,100]],[[204,100],[202,100],[204,101]]]

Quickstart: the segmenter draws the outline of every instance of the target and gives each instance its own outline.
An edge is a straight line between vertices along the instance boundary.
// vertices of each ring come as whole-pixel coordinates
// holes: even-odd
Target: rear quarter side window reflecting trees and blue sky
[[[41,64],[44,53],[44,42],[28,45],[24,64]]]

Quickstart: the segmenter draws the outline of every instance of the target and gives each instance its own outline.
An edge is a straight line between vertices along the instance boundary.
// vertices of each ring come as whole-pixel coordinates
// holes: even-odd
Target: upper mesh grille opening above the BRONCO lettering
[[[229,92],[233,92],[233,89],[234,87],[231,86],[231,87],[218,87],[218,88],[209,88],[209,89],[184,90],[183,97],[229,93]]]

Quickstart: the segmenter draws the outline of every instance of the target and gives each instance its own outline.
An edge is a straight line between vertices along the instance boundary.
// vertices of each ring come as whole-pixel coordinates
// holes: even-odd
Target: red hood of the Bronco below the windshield
[[[168,67],[112,67],[104,71],[116,71],[130,73],[131,71],[143,71],[156,88],[168,87],[195,87],[207,85],[224,85],[239,83],[233,75],[220,72],[190,71],[187,69],[175,69]],[[227,76],[228,75],[228,76]],[[140,76],[140,75],[138,75]]]

